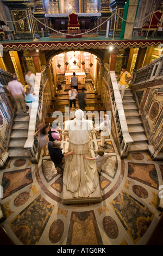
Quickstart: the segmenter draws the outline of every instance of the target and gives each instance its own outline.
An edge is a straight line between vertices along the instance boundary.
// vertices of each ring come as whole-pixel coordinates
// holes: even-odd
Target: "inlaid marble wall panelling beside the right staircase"
[[[163,159],[163,81],[132,88],[153,159]]]

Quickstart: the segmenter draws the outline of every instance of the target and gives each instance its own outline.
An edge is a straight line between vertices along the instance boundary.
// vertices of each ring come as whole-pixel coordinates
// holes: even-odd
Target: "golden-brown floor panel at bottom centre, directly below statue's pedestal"
[[[72,211],[67,245],[103,245],[93,211]]]

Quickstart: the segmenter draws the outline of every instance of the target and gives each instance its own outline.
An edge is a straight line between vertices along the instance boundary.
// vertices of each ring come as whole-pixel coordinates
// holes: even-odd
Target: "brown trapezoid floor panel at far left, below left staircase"
[[[10,196],[33,182],[31,168],[14,170],[3,174],[3,198]]]

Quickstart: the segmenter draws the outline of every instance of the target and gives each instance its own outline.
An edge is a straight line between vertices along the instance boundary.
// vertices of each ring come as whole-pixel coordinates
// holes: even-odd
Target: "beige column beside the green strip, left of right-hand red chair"
[[[138,4],[139,4],[139,0],[130,0],[129,1],[127,21],[129,21],[129,22],[135,21],[135,15],[136,15],[136,10],[137,10]],[[126,27],[125,27],[125,31],[124,31],[124,39],[132,38],[133,28],[134,28],[134,23],[126,22]]]

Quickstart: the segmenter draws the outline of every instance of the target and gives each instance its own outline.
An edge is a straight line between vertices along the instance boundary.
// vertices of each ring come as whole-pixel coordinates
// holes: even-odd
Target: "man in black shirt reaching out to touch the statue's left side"
[[[60,148],[61,142],[60,141],[50,141],[48,143],[48,150],[49,154],[51,156],[51,160],[54,163],[55,168],[57,169],[58,173],[63,173],[62,164],[64,163],[62,160],[64,157],[68,155],[73,155],[73,151],[62,154],[61,148]]]

